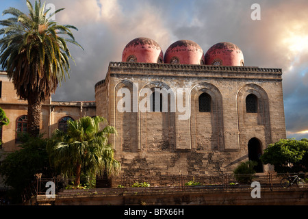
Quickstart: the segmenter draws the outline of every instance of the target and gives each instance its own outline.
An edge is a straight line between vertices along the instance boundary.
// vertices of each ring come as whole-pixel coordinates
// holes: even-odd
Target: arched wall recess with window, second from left
[[[153,97],[161,96],[162,110],[153,112]],[[162,95],[159,95],[159,92]],[[149,96],[148,96],[149,95]],[[162,81],[146,83],[139,93],[140,150],[171,151],[175,149],[175,93]],[[149,105],[148,105],[149,104]],[[155,103],[156,104],[156,103]]]

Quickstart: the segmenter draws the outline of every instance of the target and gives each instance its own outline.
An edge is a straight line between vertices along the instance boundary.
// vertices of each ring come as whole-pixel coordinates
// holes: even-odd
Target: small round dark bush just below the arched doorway
[[[240,183],[250,183],[253,177],[255,177],[254,166],[257,166],[257,162],[251,160],[242,162],[235,170],[233,170],[235,179]]]

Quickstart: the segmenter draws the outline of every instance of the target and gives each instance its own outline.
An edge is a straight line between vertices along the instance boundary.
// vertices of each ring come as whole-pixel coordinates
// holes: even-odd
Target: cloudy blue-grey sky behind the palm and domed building
[[[42,0],[44,2],[44,0]],[[34,0],[31,0],[34,4]],[[94,101],[94,85],[110,62],[120,62],[125,45],[138,37],[155,40],[163,52],[177,40],[192,40],[204,53],[217,42],[233,42],[245,66],[282,68],[287,138],[308,138],[307,0],[46,0],[55,21],[75,25],[84,51],[69,45],[70,79],[54,101]],[[260,5],[259,20],[251,14]],[[0,11],[27,12],[25,0],[0,0]],[[2,20],[3,16],[0,16]]]

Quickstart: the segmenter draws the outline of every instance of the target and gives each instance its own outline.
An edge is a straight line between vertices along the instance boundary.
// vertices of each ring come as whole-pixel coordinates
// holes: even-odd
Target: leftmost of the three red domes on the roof
[[[163,60],[162,48],[149,38],[131,40],[122,53],[122,62],[162,63]]]

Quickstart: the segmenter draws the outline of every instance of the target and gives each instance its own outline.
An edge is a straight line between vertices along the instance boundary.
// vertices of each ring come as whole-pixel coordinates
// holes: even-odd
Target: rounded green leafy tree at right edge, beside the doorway
[[[274,165],[276,172],[307,172],[308,140],[281,139],[269,144],[260,157],[264,164]]]

